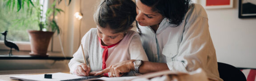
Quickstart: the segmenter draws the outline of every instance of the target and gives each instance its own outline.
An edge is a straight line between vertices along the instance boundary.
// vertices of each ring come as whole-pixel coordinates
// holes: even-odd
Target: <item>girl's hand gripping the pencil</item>
[[[85,63],[81,63],[80,65],[76,66],[74,74],[76,74],[77,76],[89,76],[90,71],[90,66],[86,65]]]

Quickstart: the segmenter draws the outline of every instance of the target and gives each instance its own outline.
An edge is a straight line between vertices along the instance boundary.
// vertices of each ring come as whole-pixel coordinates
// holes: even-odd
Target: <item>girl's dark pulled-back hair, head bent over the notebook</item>
[[[132,0],[102,0],[94,14],[100,27],[113,29],[114,33],[125,32],[136,18],[136,4]]]

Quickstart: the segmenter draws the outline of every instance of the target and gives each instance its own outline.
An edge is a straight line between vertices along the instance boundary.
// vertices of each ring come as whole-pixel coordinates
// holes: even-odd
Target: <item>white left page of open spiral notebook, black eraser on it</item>
[[[20,79],[22,81],[83,81],[83,80],[100,78],[100,76],[81,77],[81,76],[76,76],[74,74],[53,73],[52,79],[44,78],[44,74],[19,75],[19,76],[11,76],[10,78]]]

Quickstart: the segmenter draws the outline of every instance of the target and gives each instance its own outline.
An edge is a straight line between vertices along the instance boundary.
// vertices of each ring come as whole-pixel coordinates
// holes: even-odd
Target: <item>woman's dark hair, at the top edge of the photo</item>
[[[140,0],[142,4],[152,7],[152,11],[158,11],[169,19],[174,27],[179,26],[188,9],[194,4],[191,0]]]

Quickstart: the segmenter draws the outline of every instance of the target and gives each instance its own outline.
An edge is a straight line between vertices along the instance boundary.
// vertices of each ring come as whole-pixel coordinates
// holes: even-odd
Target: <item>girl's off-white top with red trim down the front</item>
[[[86,63],[91,67],[91,71],[102,70],[102,55],[104,48],[100,47],[100,41],[97,36],[97,29],[90,29],[82,38],[81,44],[83,44],[84,47]],[[80,47],[68,63],[70,73],[73,74],[74,70],[76,70],[76,66],[80,63],[84,63],[82,54],[82,49]],[[106,67],[114,63],[119,63],[130,59],[148,61],[148,57],[141,44],[139,34],[132,30],[129,30],[126,33],[119,44],[112,48],[108,48],[108,59],[106,60]]]

